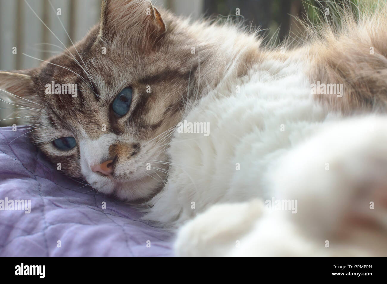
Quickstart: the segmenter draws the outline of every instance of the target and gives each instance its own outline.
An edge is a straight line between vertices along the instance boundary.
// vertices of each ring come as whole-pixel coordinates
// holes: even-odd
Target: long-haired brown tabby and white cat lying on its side
[[[345,7],[267,48],[104,0],[82,41],[0,86],[50,161],[176,230],[176,256],[386,256],[387,10]]]

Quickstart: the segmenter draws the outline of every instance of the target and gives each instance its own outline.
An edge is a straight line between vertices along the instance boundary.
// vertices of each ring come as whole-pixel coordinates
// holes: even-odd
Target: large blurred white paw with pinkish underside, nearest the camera
[[[387,118],[328,125],[289,152],[271,180],[276,198],[298,200],[287,217],[308,238],[387,255]]]

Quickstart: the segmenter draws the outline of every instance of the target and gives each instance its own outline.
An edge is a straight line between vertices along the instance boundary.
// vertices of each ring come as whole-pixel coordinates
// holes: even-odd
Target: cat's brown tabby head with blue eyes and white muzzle
[[[31,124],[41,124],[31,132],[36,145],[99,192],[135,200],[163,185],[171,129],[197,68],[185,35],[165,23],[167,30],[147,2],[104,1],[101,24],[76,50],[18,75],[39,104],[18,101],[39,109],[29,113]],[[50,94],[52,82],[77,84],[77,91]],[[21,94],[16,85],[9,90]]]

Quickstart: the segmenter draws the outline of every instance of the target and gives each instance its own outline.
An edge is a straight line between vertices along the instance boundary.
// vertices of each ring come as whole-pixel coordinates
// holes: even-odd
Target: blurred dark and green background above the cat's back
[[[274,44],[286,38],[289,32],[302,33],[296,17],[302,21],[308,19],[313,24],[339,22],[340,17],[335,13],[337,8],[349,5],[356,15],[359,1],[367,0],[205,0],[204,13],[235,15],[235,9],[239,8],[246,23],[267,30],[266,39]],[[329,19],[324,17],[327,8]]]

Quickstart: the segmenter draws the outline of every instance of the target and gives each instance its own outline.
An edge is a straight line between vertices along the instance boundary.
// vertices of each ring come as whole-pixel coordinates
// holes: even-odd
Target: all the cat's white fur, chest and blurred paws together
[[[176,133],[168,183],[145,217],[173,228],[188,221],[176,255],[386,253],[385,234],[365,234],[344,217],[360,212],[380,222],[387,216],[369,208],[373,193],[387,188],[387,118],[343,120],[324,109],[311,95],[307,68],[302,60],[267,60],[243,78],[226,74],[184,118],[209,122],[210,135]],[[361,182],[370,188],[359,197]],[[298,213],[265,210],[272,197],[298,200]],[[341,226],[358,240],[343,242]],[[329,240],[334,248],[325,247]]]

